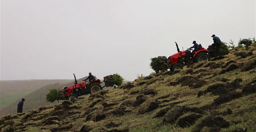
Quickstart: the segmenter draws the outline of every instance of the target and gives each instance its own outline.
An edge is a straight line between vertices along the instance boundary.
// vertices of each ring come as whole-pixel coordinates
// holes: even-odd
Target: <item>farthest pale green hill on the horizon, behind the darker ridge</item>
[[[67,84],[70,79],[52,80],[1,80],[0,81],[0,110],[12,103],[17,103],[29,93],[50,84]],[[1,113],[0,113],[1,115]]]

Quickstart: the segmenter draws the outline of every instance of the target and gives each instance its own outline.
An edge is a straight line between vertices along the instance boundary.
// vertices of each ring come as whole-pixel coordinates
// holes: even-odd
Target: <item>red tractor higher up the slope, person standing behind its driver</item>
[[[189,64],[193,64],[201,61],[210,61],[210,56],[209,56],[210,51],[203,48],[201,44],[199,44],[199,50],[195,52],[193,57],[191,57],[192,49],[188,48],[185,51],[180,51],[180,48],[177,43],[176,43],[176,47],[177,47],[178,53],[175,53],[168,57],[168,61],[170,64],[170,71],[172,72],[174,70],[183,69],[184,65],[189,65]]]

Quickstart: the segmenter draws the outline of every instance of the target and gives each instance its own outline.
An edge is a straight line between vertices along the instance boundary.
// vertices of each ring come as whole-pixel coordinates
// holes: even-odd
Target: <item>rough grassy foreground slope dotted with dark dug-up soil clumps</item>
[[[0,119],[2,131],[256,131],[256,49]],[[27,105],[27,104],[25,104]]]

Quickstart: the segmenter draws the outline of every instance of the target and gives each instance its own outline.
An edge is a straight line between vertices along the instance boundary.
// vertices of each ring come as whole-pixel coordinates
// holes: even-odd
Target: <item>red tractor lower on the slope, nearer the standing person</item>
[[[58,100],[74,100],[74,98],[77,98],[78,96],[99,92],[106,87],[106,85],[102,87],[100,85],[101,83],[103,83],[103,81],[101,82],[100,79],[96,79],[87,84],[86,81],[78,84],[75,78],[75,83],[73,86],[66,87],[63,90],[58,90],[60,95]]]

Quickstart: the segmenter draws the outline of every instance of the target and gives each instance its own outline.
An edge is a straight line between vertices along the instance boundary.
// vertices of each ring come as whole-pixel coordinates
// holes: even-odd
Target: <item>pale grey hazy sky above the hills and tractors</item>
[[[1,80],[149,75],[150,58],[255,36],[255,0],[1,0]]]

